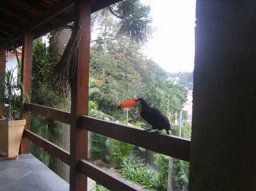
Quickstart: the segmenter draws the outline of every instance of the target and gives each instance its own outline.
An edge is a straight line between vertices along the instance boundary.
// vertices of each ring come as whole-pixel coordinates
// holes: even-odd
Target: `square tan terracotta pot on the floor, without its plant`
[[[0,156],[17,157],[26,120],[0,120]]]

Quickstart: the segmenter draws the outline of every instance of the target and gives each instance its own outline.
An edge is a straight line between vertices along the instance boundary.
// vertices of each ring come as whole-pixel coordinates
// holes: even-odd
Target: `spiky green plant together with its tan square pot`
[[[17,103],[20,93],[20,85],[14,74],[15,69],[0,74],[0,159],[16,159],[26,124],[26,120],[13,117],[13,105]]]

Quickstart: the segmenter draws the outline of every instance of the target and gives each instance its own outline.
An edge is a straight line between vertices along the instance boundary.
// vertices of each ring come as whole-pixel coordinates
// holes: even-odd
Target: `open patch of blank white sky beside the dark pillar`
[[[196,0],[141,0],[151,7],[156,31],[145,54],[165,71],[193,71]]]

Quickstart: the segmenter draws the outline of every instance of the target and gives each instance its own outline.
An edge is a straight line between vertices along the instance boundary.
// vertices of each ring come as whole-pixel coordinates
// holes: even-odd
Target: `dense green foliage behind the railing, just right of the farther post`
[[[61,100],[51,89],[51,84],[47,79],[51,76],[51,70],[56,62],[53,60],[49,48],[45,43],[37,41],[33,45],[33,62],[32,62],[32,97],[31,102],[49,107],[57,107],[64,100]],[[59,145],[59,135],[61,130],[59,123],[40,117],[31,116],[31,130],[39,136]],[[31,153],[43,161],[47,166],[50,164],[51,157],[43,149],[32,144]]]

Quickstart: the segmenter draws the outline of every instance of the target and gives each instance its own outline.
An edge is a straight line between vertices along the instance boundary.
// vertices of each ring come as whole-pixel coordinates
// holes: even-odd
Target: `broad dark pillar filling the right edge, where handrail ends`
[[[196,5],[189,190],[256,190],[256,1]]]

